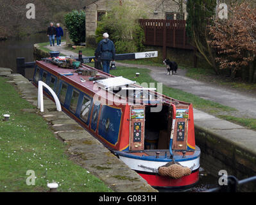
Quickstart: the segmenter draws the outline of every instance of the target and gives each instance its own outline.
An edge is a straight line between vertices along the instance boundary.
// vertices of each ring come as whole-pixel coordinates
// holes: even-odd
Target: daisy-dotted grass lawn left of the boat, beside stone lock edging
[[[67,145],[55,138],[42,117],[23,112],[34,108],[6,79],[0,78],[0,192],[45,192],[47,183],[59,192],[111,192],[102,181],[68,159]],[[27,170],[34,170],[35,186],[26,184]]]

